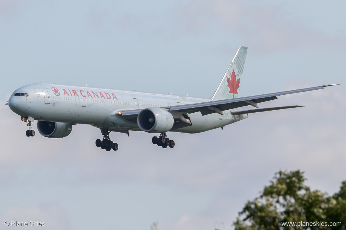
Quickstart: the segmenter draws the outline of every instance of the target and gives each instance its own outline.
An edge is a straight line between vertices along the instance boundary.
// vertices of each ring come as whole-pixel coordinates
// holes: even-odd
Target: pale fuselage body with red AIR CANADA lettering
[[[53,88],[59,93],[53,92]],[[147,93],[130,90],[115,90],[51,83],[35,83],[15,91],[28,93],[28,97],[13,96],[9,99],[11,109],[20,116],[35,120],[90,124],[95,127],[140,130],[137,123],[115,115],[116,111],[169,107],[177,104],[192,104],[211,101],[208,98],[178,96],[174,94]],[[46,93],[48,92],[48,94]],[[102,96],[101,96],[102,94]],[[57,96],[58,95],[58,96]],[[84,97],[85,96],[85,97]],[[98,97],[97,97],[98,96]],[[18,101],[17,101],[18,100]],[[138,102],[138,105],[137,105]],[[18,104],[18,106],[16,106]],[[15,105],[15,106],[13,106]],[[237,109],[235,109],[237,110]],[[175,132],[198,133],[247,118],[247,114],[225,116],[212,113],[202,116],[200,112],[189,114],[192,126],[175,129]]]

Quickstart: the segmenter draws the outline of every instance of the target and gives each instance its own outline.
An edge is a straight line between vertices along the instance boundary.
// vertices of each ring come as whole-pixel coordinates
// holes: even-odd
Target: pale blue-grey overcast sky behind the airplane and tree
[[[280,169],[305,172],[329,194],[346,180],[345,1],[0,0],[0,229],[233,229],[244,203]],[[36,82],[209,98],[239,46],[248,52],[240,96],[340,83],[281,96],[199,134],[111,133],[73,126],[62,139],[36,132],[5,105]],[[36,122],[34,124],[36,129]],[[33,229],[33,228],[31,228]]]

